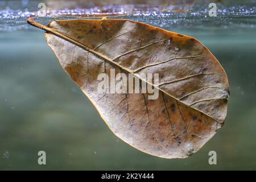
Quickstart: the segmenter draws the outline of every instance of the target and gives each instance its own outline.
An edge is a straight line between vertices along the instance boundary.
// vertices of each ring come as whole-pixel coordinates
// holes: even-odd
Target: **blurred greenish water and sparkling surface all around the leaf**
[[[88,15],[137,20],[199,39],[230,84],[225,125],[196,154],[161,159],[115,137],[61,68],[40,23]],[[154,3],[153,3],[154,2]],[[184,3],[185,2],[185,3]],[[217,16],[208,15],[209,3]],[[0,169],[256,169],[256,1],[0,1]],[[72,15],[67,16],[67,15]],[[81,17],[85,16],[85,17]],[[38,151],[47,164],[38,164]],[[209,151],[217,165],[209,165]]]

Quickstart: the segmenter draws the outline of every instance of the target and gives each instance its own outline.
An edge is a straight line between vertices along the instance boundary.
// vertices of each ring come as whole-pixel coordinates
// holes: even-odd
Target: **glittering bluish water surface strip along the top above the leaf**
[[[1,2],[3,1],[0,1],[0,5]],[[26,3],[26,1],[21,2],[23,2],[22,5]],[[5,9],[0,9],[0,31],[27,30],[30,28],[27,26],[26,19],[30,16],[38,17],[37,5],[31,5],[30,9],[23,8],[22,5],[19,5],[16,9],[11,9],[7,5]],[[86,18],[88,16],[103,15],[109,16],[109,18],[140,20],[158,27],[191,27],[195,26],[195,24],[200,26],[202,22],[210,26],[213,20],[218,20],[217,24],[221,24],[222,27],[229,26],[230,24],[246,24],[247,27],[255,27],[256,8],[254,5],[226,7],[220,4],[217,7],[216,18],[209,17],[207,4],[199,3],[189,7],[183,6],[183,9],[179,9],[176,6],[168,6],[164,10],[163,8],[159,9],[159,7],[148,5],[111,5],[95,6],[88,9],[76,7],[75,9],[47,10],[46,16],[38,17],[37,20],[41,23],[47,23],[52,19]]]

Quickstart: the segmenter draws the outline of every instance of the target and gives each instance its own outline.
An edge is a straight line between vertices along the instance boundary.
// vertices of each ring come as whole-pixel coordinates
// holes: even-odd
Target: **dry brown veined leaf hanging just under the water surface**
[[[138,150],[186,158],[223,125],[228,78],[195,38],[120,19],[53,20],[40,28],[110,130]],[[153,85],[158,99],[142,93],[99,94],[97,76],[110,76],[110,69],[144,82],[143,73],[159,73],[159,85]]]

